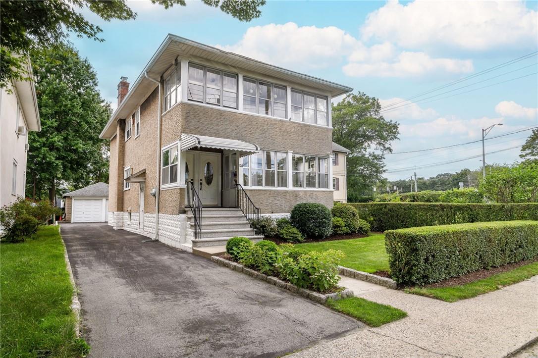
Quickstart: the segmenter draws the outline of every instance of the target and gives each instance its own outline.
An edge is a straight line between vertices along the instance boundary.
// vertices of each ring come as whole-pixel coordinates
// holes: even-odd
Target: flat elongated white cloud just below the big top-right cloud
[[[357,59],[354,53],[350,58]],[[471,60],[436,59],[423,52],[401,52],[393,61],[351,62],[343,67],[348,76],[416,77],[433,73],[463,74],[473,70]]]

